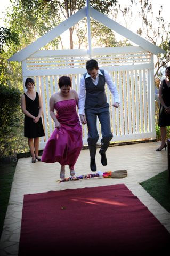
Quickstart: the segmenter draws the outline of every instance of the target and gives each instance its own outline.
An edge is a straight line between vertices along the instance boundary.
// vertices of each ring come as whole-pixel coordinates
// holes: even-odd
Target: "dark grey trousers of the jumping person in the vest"
[[[85,109],[87,127],[88,127],[88,147],[90,150],[90,157],[95,158],[96,155],[96,144],[99,139],[99,134],[97,130],[97,117],[99,118],[101,124],[101,153],[105,153],[109,147],[110,140],[113,137],[110,127],[110,113],[109,104],[107,107],[96,107]]]

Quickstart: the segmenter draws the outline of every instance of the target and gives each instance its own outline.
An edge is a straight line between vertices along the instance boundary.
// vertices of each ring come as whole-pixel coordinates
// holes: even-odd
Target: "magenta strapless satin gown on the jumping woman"
[[[74,165],[83,146],[82,126],[76,111],[76,100],[63,100],[55,103],[56,118],[61,127],[55,128],[48,139],[42,155],[42,162]]]

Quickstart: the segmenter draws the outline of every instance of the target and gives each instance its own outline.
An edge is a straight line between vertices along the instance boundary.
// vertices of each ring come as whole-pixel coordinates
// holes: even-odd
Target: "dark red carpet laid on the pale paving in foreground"
[[[19,256],[164,255],[170,234],[125,185],[25,195]]]

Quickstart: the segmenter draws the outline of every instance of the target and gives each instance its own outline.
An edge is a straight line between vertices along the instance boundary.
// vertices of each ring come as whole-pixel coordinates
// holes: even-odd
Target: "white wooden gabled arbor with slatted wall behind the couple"
[[[78,50],[39,50],[64,31],[87,17],[88,49]],[[139,46],[108,47],[92,49],[90,17],[116,31]],[[120,107],[110,107],[112,141],[127,141],[155,138],[155,86],[153,81],[153,54],[165,53],[160,47],[151,44],[117,22],[96,11],[86,2],[86,7],[76,12],[60,25],[48,31],[25,49],[15,53],[9,61],[22,62],[23,82],[32,77],[36,90],[43,99],[43,123],[45,137],[41,138],[43,149],[54,130],[48,102],[51,94],[58,91],[61,75],[72,78],[72,87],[79,93],[79,79],[85,73],[88,59],[96,59],[101,69],[106,69],[120,93]],[[111,103],[110,91],[107,90]],[[110,104],[111,106],[111,104]],[[100,124],[98,123],[100,132]],[[87,126],[83,126],[83,142],[87,144]]]

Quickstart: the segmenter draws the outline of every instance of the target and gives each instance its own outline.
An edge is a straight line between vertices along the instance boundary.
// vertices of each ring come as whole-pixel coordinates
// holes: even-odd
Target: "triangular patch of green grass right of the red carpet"
[[[161,204],[161,206],[170,212],[170,183],[168,182],[168,170],[140,184],[159,204]]]

